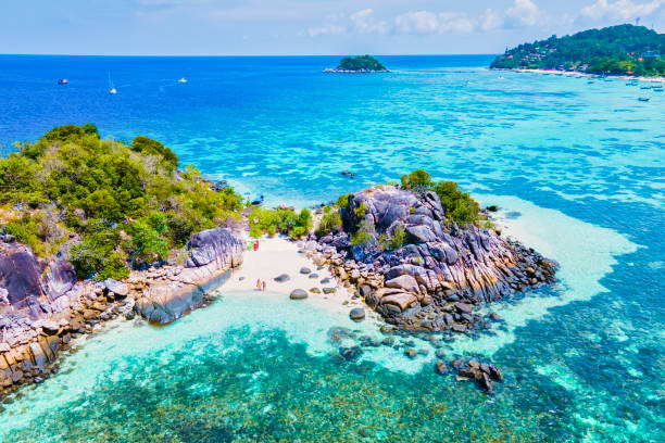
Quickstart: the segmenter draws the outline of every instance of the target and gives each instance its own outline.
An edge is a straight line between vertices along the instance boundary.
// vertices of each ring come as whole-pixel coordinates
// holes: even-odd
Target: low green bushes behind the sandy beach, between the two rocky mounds
[[[298,239],[312,229],[312,214],[306,207],[296,213],[293,210],[267,210],[259,206],[249,215],[249,223],[252,237],[280,232]]]

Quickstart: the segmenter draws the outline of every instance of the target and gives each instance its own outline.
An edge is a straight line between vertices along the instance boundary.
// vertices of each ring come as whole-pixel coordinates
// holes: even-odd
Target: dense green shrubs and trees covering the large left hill
[[[102,140],[95,125],[55,127],[0,159],[1,224],[36,254],[67,250],[80,278],[122,277],[167,260],[192,233],[240,217],[233,189],[216,192],[159,141]]]

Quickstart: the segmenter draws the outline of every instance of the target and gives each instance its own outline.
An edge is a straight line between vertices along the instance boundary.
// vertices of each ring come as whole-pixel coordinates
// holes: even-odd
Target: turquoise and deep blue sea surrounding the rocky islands
[[[419,167],[459,181],[561,264],[554,287],[492,306],[504,322],[440,347],[498,365],[495,395],[436,375],[422,338],[342,363],[331,329],[349,344],[382,334],[312,301],[222,288],[165,328],[125,322],[81,343],[2,405],[0,441],[665,441],[665,96],[491,72],[492,56],[380,59],[392,73],[323,74],[338,58],[314,56],[2,55],[0,143],[91,122],[160,139],[267,204]],[[409,342],[427,355],[406,358]]]

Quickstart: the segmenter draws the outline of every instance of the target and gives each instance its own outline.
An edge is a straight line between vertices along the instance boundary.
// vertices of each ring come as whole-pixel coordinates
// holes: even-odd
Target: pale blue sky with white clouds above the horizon
[[[665,0],[17,0],[0,53],[443,54],[589,27],[665,31]]]

